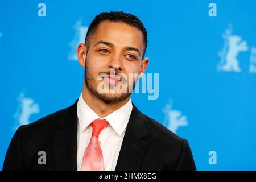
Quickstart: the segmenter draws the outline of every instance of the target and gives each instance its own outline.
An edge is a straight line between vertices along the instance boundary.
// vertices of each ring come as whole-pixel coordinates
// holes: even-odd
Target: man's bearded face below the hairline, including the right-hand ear
[[[143,51],[143,34],[138,28],[120,22],[101,22],[86,49],[88,90],[107,102],[129,97],[148,64],[147,58],[142,60]]]

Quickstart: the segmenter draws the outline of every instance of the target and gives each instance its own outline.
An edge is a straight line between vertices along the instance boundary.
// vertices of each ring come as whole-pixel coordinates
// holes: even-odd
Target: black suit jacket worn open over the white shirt
[[[20,126],[7,150],[3,170],[76,170],[77,101]],[[39,151],[46,152],[46,164],[38,163]],[[115,170],[196,170],[196,167],[187,140],[142,114],[133,104]]]

